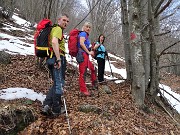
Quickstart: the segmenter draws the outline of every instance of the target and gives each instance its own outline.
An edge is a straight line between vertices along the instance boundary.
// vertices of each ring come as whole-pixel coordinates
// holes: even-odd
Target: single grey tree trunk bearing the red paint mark
[[[145,71],[141,49],[140,19],[140,0],[132,0],[132,3],[130,3],[131,61],[133,67],[132,94],[135,103],[141,107],[144,106],[145,98]]]

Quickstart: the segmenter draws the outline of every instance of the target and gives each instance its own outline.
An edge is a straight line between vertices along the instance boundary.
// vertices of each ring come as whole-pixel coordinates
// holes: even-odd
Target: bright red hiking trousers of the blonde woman
[[[86,87],[86,84],[85,84],[87,68],[89,68],[89,70],[91,71],[91,83],[92,83],[92,85],[95,85],[95,81],[96,81],[95,68],[94,68],[94,65],[92,64],[92,62],[89,60],[89,55],[86,54],[85,52],[83,52],[83,58],[84,58],[84,61],[79,64],[79,73],[80,73],[80,75],[79,75],[79,87],[80,87],[80,92],[88,91],[87,87]]]

